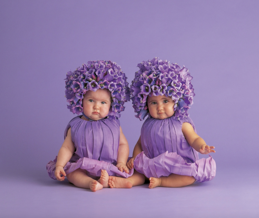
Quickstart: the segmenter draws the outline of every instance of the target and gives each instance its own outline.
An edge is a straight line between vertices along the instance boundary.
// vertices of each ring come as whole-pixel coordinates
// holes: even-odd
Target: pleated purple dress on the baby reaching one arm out
[[[141,128],[142,151],[134,160],[134,168],[146,177],[178,174],[193,176],[199,182],[213,179],[216,163],[212,157],[199,160],[182,133],[182,124],[188,122],[196,132],[191,118],[180,121],[173,117],[166,119],[147,118]]]

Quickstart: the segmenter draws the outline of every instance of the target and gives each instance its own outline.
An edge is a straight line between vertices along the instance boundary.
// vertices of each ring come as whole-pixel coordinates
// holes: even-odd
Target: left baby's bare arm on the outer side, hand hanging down
[[[67,164],[67,162],[71,159],[72,155],[75,151],[75,145],[71,138],[71,129],[69,128],[67,137],[65,138],[59,153],[57,155],[57,162],[56,162],[56,170],[55,170],[55,176],[58,181],[64,181],[66,176],[66,173],[64,171],[64,166]],[[61,174],[63,175],[61,177]]]

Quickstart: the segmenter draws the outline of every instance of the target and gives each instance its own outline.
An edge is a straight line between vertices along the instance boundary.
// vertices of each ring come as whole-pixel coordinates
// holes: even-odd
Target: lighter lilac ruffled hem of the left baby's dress
[[[56,169],[57,156],[54,161],[49,161],[47,163],[47,171],[49,177],[52,179],[56,179],[55,177],[55,169]],[[64,167],[64,171],[66,174],[75,171],[76,169],[81,168],[87,171],[87,175],[96,178],[101,176],[101,170],[106,170],[109,176],[119,176],[128,178],[132,176],[134,169],[131,169],[129,173],[125,171],[121,172],[116,166],[112,163],[108,163],[106,161],[98,161],[94,159],[90,159],[88,157],[83,157],[78,159],[76,162],[67,162]]]

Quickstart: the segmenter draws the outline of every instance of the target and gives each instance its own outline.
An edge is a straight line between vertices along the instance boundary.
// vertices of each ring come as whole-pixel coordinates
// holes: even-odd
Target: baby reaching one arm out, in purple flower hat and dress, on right
[[[131,99],[137,118],[148,118],[134,147],[127,167],[135,168],[128,178],[109,177],[111,187],[143,184],[149,179],[149,188],[183,187],[213,179],[215,161],[199,159],[198,153],[214,153],[198,136],[188,109],[192,104],[193,88],[188,69],[166,60],[154,58],[138,64],[139,71],[131,86]]]

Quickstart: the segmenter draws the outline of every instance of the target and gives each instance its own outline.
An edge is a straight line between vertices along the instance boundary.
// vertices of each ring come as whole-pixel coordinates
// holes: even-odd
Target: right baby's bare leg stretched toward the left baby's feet
[[[117,176],[109,176],[109,186],[111,188],[131,188],[132,186],[142,185],[145,182],[145,176],[134,170],[131,177],[121,178]]]

